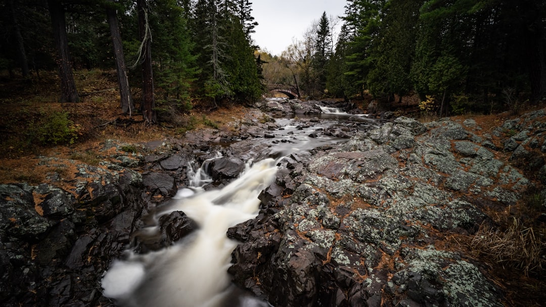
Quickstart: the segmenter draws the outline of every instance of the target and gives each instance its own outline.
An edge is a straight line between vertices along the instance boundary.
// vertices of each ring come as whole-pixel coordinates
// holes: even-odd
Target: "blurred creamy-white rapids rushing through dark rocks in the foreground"
[[[145,255],[127,251],[127,258],[112,262],[102,279],[104,296],[132,307],[268,306],[251,296],[233,294],[227,269],[237,242],[226,232],[256,217],[258,195],[275,179],[276,164],[273,159],[248,163],[238,179],[209,191],[199,186],[209,178],[192,168],[188,175],[193,175],[194,187],[180,190],[155,218],[182,211],[199,229],[167,249]]]

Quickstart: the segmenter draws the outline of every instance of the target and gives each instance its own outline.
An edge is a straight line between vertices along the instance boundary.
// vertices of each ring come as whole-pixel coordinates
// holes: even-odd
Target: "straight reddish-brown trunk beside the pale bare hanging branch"
[[[142,103],[140,110],[147,125],[156,123],[155,100],[153,97],[153,71],[152,71],[152,41],[147,14],[148,3],[146,0],[136,0],[138,10],[138,28],[140,39],[143,42],[141,53],[144,53],[142,62]]]

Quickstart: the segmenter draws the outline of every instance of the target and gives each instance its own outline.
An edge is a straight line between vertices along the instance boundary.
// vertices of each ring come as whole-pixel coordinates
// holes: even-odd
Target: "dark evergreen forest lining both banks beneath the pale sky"
[[[140,111],[150,124],[157,105],[248,104],[267,84],[303,98],[371,97],[376,111],[413,96],[440,116],[546,99],[541,0],[348,0],[341,20],[317,16],[281,55],[253,44],[250,0],[7,0],[0,8],[0,69],[10,77],[57,69],[60,101],[76,102],[73,70],[116,69],[123,112]]]

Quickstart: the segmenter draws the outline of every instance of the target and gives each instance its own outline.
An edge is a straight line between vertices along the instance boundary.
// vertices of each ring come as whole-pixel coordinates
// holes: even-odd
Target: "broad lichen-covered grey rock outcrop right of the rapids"
[[[464,125],[479,130],[475,121]],[[316,151],[290,174],[293,184],[285,175],[263,199],[278,208],[261,218],[276,225],[278,248],[252,260],[244,251],[257,241],[239,236],[234,267],[246,273],[238,284],[273,305],[501,306],[502,294],[473,263],[421,247],[437,233],[474,233],[488,219],[483,204],[514,204],[531,184],[496,158],[494,136],[465,127],[397,118]]]

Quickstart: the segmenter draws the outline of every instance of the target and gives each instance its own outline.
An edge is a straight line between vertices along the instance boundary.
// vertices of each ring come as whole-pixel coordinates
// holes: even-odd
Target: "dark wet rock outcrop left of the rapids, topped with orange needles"
[[[110,164],[39,164],[67,171],[50,184],[0,185],[0,305],[111,306],[97,280],[141,225],[142,177]]]

